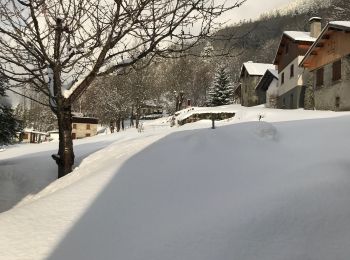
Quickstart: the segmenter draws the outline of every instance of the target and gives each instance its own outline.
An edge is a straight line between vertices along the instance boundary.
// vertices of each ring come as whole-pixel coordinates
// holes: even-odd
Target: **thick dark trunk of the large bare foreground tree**
[[[72,115],[71,107],[66,107],[57,112],[59,128],[58,155],[53,155],[58,165],[58,178],[72,171],[74,164],[74,151],[72,140]]]

